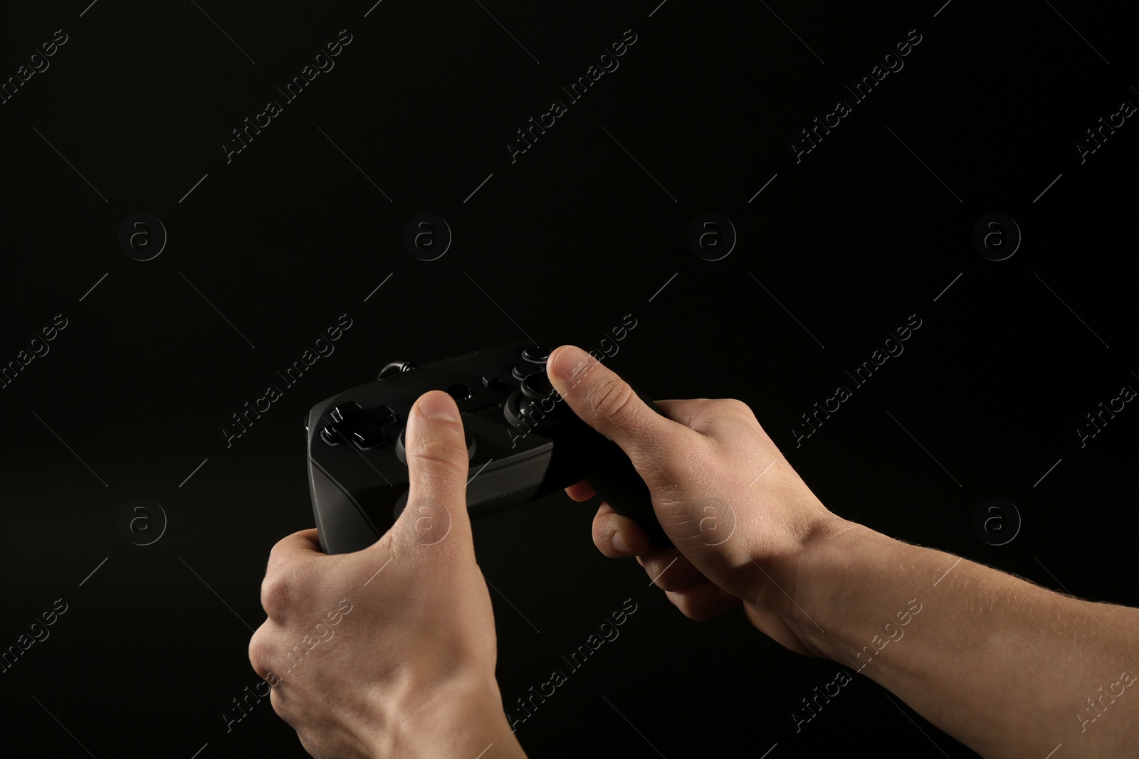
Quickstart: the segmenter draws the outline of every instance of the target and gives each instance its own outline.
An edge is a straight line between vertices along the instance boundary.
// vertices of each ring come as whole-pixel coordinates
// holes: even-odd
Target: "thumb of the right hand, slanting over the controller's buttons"
[[[693,430],[657,413],[608,366],[572,345],[550,354],[550,383],[595,430],[616,443],[649,485],[671,481]]]

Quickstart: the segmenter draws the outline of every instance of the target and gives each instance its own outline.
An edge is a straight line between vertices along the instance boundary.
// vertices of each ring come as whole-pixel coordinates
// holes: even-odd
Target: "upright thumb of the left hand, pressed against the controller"
[[[408,415],[408,505],[394,539],[434,546],[446,543],[474,560],[467,514],[468,456],[454,401],[442,390],[419,396]]]

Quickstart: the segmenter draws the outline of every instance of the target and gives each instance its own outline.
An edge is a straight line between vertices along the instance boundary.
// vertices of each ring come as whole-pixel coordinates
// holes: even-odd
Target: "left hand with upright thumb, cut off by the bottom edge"
[[[273,547],[249,661],[318,759],[523,757],[494,679],[454,401],[423,395],[407,439],[408,508],[379,541],[330,556],[309,529]]]

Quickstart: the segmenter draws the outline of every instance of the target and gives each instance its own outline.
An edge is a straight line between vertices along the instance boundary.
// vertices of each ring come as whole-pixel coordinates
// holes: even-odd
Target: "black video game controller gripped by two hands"
[[[546,373],[549,353],[509,344],[423,368],[393,361],[377,380],[313,406],[306,420],[309,489],[321,550],[360,551],[395,523],[408,502],[408,414],[428,390],[445,390],[459,407],[473,518],[585,480],[614,511],[640,523],[655,545],[672,545],[629,456],[554,390]]]

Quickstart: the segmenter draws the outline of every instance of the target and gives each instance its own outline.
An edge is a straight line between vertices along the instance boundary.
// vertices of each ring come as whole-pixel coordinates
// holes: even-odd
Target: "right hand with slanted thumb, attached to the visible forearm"
[[[551,353],[547,373],[574,412],[629,455],[674,545],[650,546],[639,525],[603,503],[593,518],[598,550],[611,558],[636,555],[693,619],[743,602],[764,634],[793,651],[821,655],[786,624],[795,592],[771,574],[777,564],[794,567],[809,542],[849,523],[811,493],[752,410],[730,398],[657,401],[662,416],[574,346]],[[595,495],[585,482],[566,493],[575,501]]]

